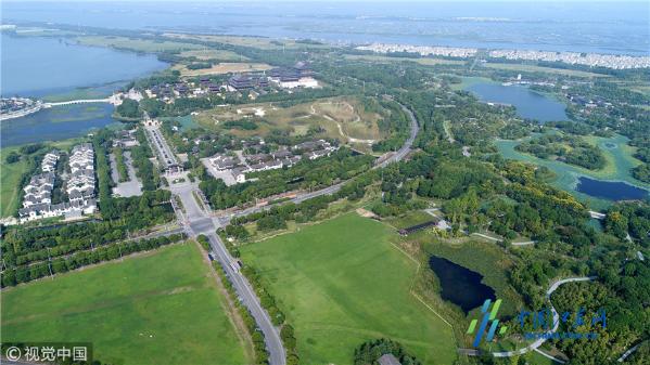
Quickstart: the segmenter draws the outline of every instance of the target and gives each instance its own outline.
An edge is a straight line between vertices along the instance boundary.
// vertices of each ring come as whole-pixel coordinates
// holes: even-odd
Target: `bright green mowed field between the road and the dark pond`
[[[347,213],[242,247],[295,328],[301,363],[352,364],[366,340],[391,338],[424,364],[451,364],[451,328],[411,295],[417,263],[387,225]]]

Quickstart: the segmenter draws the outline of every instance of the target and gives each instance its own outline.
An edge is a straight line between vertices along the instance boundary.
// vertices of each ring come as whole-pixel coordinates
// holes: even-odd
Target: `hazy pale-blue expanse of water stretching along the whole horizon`
[[[102,1],[2,3],[2,23],[649,54],[648,6],[638,2]]]

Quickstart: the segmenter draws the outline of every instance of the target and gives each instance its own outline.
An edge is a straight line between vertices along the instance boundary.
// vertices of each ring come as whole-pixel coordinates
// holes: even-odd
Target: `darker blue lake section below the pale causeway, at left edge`
[[[43,141],[61,141],[88,134],[118,121],[111,117],[111,104],[73,104],[42,109],[0,123],[2,147]]]

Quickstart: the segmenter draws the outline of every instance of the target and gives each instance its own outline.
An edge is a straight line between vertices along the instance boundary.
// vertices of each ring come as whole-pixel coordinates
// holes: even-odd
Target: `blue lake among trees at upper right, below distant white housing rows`
[[[533,92],[526,87],[505,87],[494,82],[477,82],[468,86],[466,90],[474,93],[483,102],[512,105],[522,118],[535,119],[540,122],[569,119],[564,104]]]

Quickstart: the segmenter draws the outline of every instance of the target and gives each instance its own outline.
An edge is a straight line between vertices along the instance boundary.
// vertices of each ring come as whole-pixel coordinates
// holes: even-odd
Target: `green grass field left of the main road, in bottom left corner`
[[[3,290],[4,341],[88,341],[113,365],[245,364],[193,243]]]

